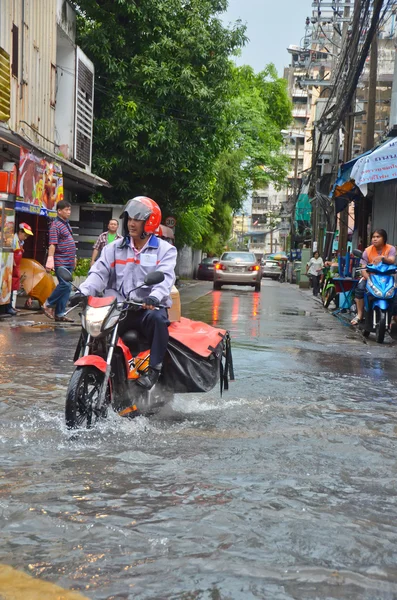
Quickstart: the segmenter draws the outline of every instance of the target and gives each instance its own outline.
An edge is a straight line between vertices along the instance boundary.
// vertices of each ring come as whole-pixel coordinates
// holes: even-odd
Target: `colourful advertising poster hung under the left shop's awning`
[[[56,204],[63,200],[61,165],[21,147],[16,195],[16,210],[56,217]]]

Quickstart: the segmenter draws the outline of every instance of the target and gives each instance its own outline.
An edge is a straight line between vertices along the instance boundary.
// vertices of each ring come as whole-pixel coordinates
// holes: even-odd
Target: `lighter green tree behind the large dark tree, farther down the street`
[[[242,207],[250,190],[285,183],[289,159],[282,153],[281,130],[291,123],[287,82],[270,64],[258,74],[248,66],[234,68],[228,107],[231,144],[216,169],[213,211],[204,235],[205,249],[223,248],[232,227],[231,214]]]

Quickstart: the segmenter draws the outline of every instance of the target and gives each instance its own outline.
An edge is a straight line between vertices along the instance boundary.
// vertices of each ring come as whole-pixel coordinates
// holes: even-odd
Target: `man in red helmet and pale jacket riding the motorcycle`
[[[116,296],[118,300],[135,300],[142,309],[129,311],[120,322],[119,334],[136,329],[150,343],[150,365],[137,384],[150,390],[158,381],[168,344],[167,308],[172,304],[171,288],[175,282],[176,248],[154,235],[161,223],[159,205],[146,196],[136,196],[127,202],[122,214],[122,239],[102,250],[70,304],[76,305],[82,296]],[[150,288],[132,290],[142,285],[145,275],[162,271],[164,281]]]

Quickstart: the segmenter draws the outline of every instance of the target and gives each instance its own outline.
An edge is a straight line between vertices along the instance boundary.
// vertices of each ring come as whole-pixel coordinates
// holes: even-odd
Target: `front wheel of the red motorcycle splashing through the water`
[[[104,374],[95,367],[77,367],[70,378],[66,394],[65,420],[68,429],[91,429],[100,418],[106,418],[111,403],[108,383],[104,406],[98,414],[98,401]]]

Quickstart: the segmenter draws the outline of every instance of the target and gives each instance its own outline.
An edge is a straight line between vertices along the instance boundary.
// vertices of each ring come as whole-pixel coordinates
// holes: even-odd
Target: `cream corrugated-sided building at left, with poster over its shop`
[[[84,202],[108,185],[91,173],[93,98],[94,68],[76,46],[72,5],[2,0],[0,168],[19,168],[16,224],[32,226],[27,255],[40,262],[56,202]]]

